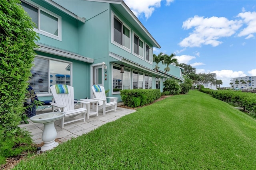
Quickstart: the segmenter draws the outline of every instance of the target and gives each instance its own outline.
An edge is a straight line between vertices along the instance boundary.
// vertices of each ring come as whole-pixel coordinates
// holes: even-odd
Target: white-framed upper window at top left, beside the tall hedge
[[[61,41],[61,17],[35,4],[21,3],[34,23],[39,34]]]

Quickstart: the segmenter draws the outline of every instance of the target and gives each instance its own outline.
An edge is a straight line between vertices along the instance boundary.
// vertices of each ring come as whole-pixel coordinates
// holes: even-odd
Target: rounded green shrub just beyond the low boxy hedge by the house
[[[165,80],[163,85],[164,85],[164,88],[163,88],[164,92],[168,91],[170,92],[170,94],[180,94],[181,92],[181,87],[177,80],[174,80],[174,79]]]

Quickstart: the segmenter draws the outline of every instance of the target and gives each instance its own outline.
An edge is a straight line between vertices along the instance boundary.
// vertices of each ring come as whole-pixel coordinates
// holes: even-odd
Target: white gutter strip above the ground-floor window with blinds
[[[86,62],[86,63],[94,63],[94,59],[82,56],[78,53],[72,53],[70,51],[58,49],[56,47],[51,47],[51,46],[41,44],[41,43],[37,43],[37,42],[35,42],[35,43],[36,43],[36,45],[38,45],[40,47],[39,49],[34,49],[35,51],[41,51],[41,52],[44,52],[44,53],[58,55],[58,56],[61,56],[61,57],[66,57],[68,59],[83,61],[83,62]]]

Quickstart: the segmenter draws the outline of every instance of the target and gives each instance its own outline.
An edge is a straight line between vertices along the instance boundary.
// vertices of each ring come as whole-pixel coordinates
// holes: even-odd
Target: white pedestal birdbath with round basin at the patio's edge
[[[65,113],[63,112],[50,112],[30,117],[30,120],[34,123],[44,123],[44,131],[42,134],[44,146],[41,147],[42,152],[50,150],[59,144],[55,142],[57,131],[54,127],[54,121],[62,119],[64,115]]]

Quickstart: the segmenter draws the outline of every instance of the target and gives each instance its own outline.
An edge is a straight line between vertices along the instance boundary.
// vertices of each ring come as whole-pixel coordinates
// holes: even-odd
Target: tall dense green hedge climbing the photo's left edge
[[[38,38],[19,0],[0,1],[0,162],[30,149],[32,139],[18,127]]]

